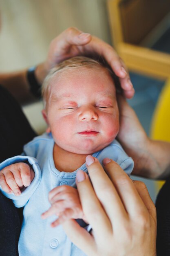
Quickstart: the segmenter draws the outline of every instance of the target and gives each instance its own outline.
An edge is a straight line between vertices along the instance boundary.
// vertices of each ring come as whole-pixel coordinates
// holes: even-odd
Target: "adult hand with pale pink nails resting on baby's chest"
[[[156,210],[144,183],[132,182],[110,159],[107,174],[97,159],[87,160],[93,186],[79,171],[77,189],[93,234],[68,220],[68,237],[88,256],[156,256]]]

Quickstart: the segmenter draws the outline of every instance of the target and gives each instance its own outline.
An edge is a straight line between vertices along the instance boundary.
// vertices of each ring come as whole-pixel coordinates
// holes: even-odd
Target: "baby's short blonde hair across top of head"
[[[42,97],[44,100],[44,108],[46,108],[46,103],[48,102],[48,99],[49,99],[49,93],[50,93],[50,88],[51,88],[51,86],[50,86],[51,79],[60,70],[74,70],[76,67],[83,67],[83,68],[101,68],[102,67],[110,73],[110,75],[113,77],[113,79],[115,78],[115,74],[108,67],[108,65],[105,66],[103,63],[96,61],[95,59],[88,58],[85,56],[76,56],[73,58],[69,58],[69,59],[57,64],[55,67],[53,67],[50,70],[49,74],[44,79],[44,82],[42,84]]]

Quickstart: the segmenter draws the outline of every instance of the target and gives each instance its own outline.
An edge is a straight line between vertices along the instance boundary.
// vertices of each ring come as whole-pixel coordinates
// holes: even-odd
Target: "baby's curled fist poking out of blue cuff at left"
[[[29,164],[11,164],[0,171],[0,185],[4,192],[20,195],[21,190],[29,186],[35,176]]]

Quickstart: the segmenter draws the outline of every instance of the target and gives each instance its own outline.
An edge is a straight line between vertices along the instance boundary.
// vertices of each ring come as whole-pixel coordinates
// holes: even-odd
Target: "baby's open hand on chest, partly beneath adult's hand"
[[[68,219],[84,219],[78,191],[71,186],[58,186],[51,190],[49,202],[51,207],[42,213],[42,218],[46,219],[53,214],[58,216],[58,219],[51,223],[51,227],[56,227]]]

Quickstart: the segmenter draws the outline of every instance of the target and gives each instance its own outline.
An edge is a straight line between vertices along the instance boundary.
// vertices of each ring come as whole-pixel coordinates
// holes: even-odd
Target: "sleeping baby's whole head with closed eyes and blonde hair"
[[[115,83],[108,68],[87,57],[63,61],[42,85],[46,123],[66,151],[92,154],[119,131]]]

